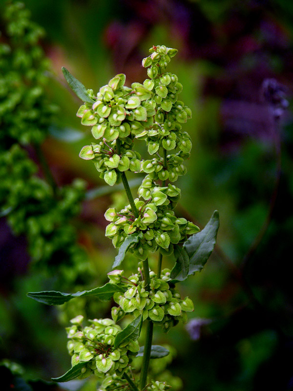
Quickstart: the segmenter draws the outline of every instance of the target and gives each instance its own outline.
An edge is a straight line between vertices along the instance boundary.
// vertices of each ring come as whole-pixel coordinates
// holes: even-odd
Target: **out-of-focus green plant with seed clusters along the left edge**
[[[58,270],[59,279],[71,284],[88,269],[71,224],[85,183],[58,187],[42,153],[58,111],[46,92],[50,67],[39,43],[44,32],[20,2],[7,3],[0,26],[0,216],[15,235],[26,235],[35,264]]]

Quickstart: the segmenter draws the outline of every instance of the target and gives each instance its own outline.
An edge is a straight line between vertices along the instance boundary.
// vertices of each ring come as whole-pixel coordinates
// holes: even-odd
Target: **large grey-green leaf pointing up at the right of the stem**
[[[219,212],[214,211],[205,228],[190,236],[184,243],[183,247],[189,258],[189,270],[187,277],[195,272],[201,271],[201,269],[205,266],[216,244],[218,229]],[[187,277],[184,280],[186,280]],[[173,279],[174,280],[171,282],[184,281],[177,279],[177,276],[173,276]]]

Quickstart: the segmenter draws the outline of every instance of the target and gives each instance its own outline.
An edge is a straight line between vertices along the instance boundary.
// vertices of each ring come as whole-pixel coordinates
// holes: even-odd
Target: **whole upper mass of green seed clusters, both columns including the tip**
[[[116,75],[96,97],[92,90],[87,90],[93,104],[85,102],[77,113],[82,124],[92,126],[96,139],[103,138],[98,145],[85,146],[80,157],[93,159],[100,176],[110,186],[118,183],[121,172],[127,170],[140,172],[142,168],[152,179],[172,182],[178,175],[186,174],[183,162],[189,157],[191,140],[180,123],[191,118],[191,110],[177,101],[182,90],[177,76],[162,73],[177,50],[156,46],[150,51],[152,54],[143,60],[143,65],[151,65],[147,70],[151,79],[146,79],[144,85],[133,83],[131,88],[125,87],[125,75]],[[180,151],[167,155],[167,159],[143,160],[141,167],[139,153],[127,152],[132,150],[133,138],[145,139],[151,155],[159,148],[171,151],[178,147]],[[106,142],[112,142],[111,146]],[[124,147],[121,151],[120,144]]]

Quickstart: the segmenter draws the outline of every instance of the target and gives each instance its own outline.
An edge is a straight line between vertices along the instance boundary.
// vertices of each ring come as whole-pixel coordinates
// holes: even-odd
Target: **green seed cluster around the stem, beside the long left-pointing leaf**
[[[126,279],[123,277],[123,270],[114,270],[108,276],[110,282],[126,289],[124,294],[116,292],[113,296],[120,307],[112,308],[112,317],[116,322],[125,313],[133,313],[135,317],[142,314],[143,320],[148,319],[154,324],[162,325],[167,332],[179,321],[186,323],[186,312],[194,310],[192,301],[188,297],[182,300],[179,291],[169,285],[169,269],[164,269],[160,278],[150,271],[149,290],[145,289],[145,280],[142,280],[140,273]]]

